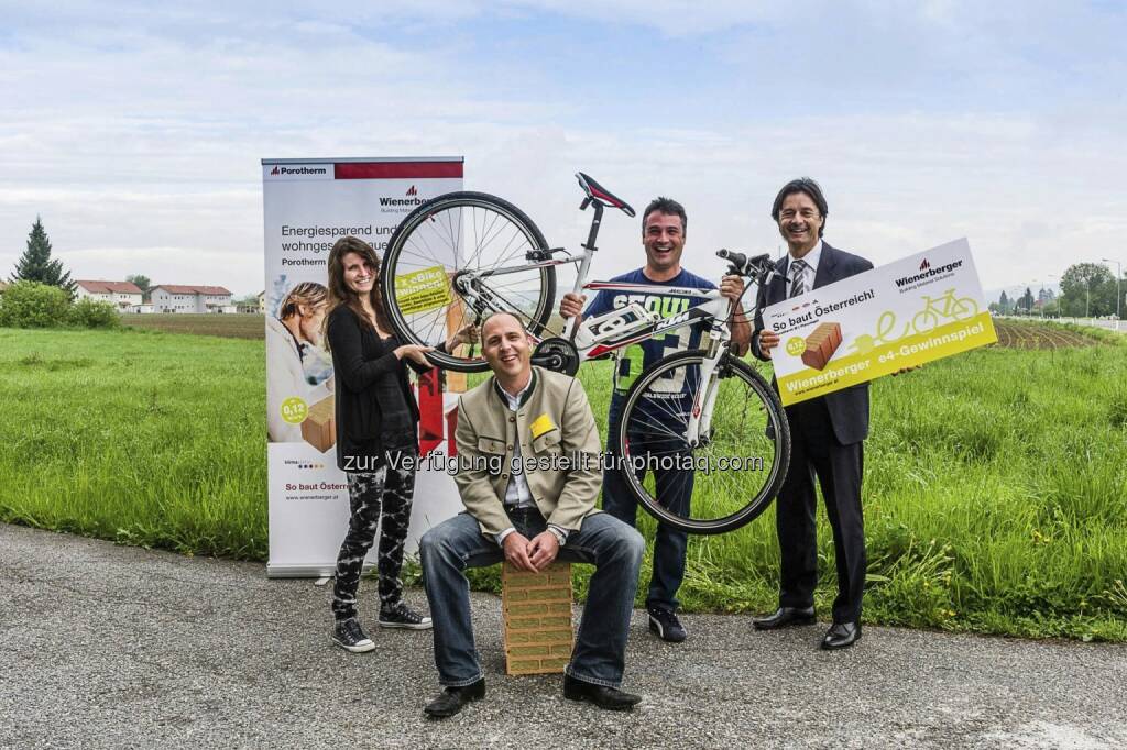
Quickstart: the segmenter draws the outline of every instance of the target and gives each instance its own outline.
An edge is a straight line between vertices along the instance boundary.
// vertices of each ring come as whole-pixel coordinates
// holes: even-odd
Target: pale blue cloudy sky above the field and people
[[[810,176],[880,265],[966,236],[986,289],[1117,259],[1127,3],[0,0],[0,277],[36,216],[74,278],[263,289],[263,158],[464,155],[553,247],[573,175],[689,213],[684,265],[780,255]],[[644,259],[607,214],[593,275]],[[1115,267],[1112,265],[1112,271]]]

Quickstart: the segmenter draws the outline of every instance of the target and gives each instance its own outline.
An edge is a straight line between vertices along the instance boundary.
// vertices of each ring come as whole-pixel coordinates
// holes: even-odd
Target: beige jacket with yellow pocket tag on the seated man
[[[532,498],[549,523],[578,529],[597,512],[601,443],[587,394],[574,377],[542,367],[533,372],[531,394],[516,413],[497,392],[496,377],[458,400],[454,481],[465,509],[490,537],[513,525],[504,500],[516,441]]]

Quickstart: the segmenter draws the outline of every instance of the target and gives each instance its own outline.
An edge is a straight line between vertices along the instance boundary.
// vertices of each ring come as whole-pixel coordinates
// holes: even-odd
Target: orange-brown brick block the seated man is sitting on
[[[571,659],[571,565],[553,563],[540,573],[502,568],[505,671],[549,675]]]

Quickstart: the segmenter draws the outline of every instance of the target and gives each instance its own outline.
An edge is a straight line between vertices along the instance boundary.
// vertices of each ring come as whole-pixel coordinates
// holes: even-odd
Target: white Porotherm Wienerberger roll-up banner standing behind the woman
[[[321,342],[329,250],[352,234],[382,259],[408,213],[462,188],[462,167],[461,157],[263,160],[270,577],[331,574],[348,527],[332,359]],[[440,383],[432,370],[417,386],[420,448],[452,456],[458,396]],[[408,554],[426,529],[462,509],[442,463],[424,463],[418,472]],[[369,562],[375,554],[373,547]]]

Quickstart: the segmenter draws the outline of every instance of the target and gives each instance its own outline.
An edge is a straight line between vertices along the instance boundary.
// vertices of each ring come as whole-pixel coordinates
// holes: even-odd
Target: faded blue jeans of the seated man
[[[514,524],[527,538],[545,528],[536,519]],[[522,528],[523,526],[523,528]],[[606,514],[593,514],[571,532],[560,548],[561,562],[595,565],[587,605],[583,609],[579,635],[565,671],[571,677],[616,688],[625,666],[630,614],[638,590],[638,569],[646,543],[641,535]],[[460,687],[481,679],[473,626],[470,623],[470,584],[467,568],[502,562],[504,552],[469,514],[459,514],[423,535],[419,543],[426,596],[434,620],[434,661],[438,681]]]

